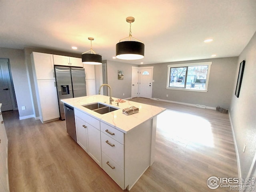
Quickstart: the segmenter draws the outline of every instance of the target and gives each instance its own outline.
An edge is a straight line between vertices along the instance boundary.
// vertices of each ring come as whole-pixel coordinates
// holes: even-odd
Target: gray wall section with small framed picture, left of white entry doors
[[[107,63],[108,84],[112,88],[112,96],[121,99],[130,98],[132,96],[132,66],[138,65],[109,60],[105,62]],[[118,79],[118,70],[124,71],[124,79]]]

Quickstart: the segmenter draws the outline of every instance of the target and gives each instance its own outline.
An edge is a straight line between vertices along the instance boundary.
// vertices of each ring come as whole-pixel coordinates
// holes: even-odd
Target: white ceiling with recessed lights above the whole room
[[[145,58],[119,60],[116,43],[144,42]],[[0,0],[0,47],[49,48],[153,64],[238,56],[256,31],[256,0]],[[203,40],[213,38],[211,43]],[[71,46],[77,46],[72,50]]]

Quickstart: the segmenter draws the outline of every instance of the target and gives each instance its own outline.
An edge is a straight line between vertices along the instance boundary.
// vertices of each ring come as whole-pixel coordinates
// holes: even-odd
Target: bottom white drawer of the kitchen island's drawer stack
[[[124,170],[102,152],[102,169],[124,190]]]

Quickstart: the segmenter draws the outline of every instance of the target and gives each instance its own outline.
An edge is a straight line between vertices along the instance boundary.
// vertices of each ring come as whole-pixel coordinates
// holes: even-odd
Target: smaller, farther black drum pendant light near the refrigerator
[[[91,49],[82,54],[82,63],[91,64],[91,65],[100,65],[100,64],[102,64],[102,56],[96,54],[96,52],[94,52],[92,50],[92,41],[94,40],[94,38],[93,37],[88,37],[88,40],[91,41]],[[88,53],[89,51],[91,53]]]

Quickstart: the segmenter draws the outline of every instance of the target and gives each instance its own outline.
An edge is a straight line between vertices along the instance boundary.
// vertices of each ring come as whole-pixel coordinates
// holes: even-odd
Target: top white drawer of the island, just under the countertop
[[[124,144],[124,133],[115,129],[112,126],[107,125],[106,123],[100,122],[100,130],[106,135],[110,136],[114,140]]]

